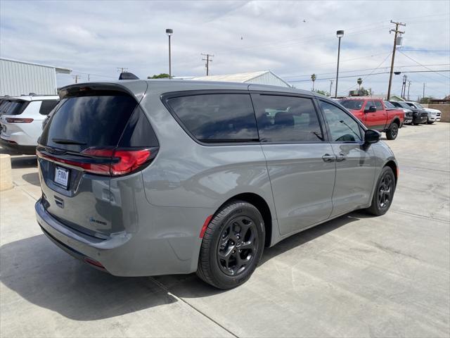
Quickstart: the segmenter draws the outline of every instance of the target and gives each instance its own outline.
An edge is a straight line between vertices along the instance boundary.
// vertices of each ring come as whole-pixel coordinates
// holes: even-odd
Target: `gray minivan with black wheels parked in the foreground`
[[[340,104],[259,84],[74,84],[39,139],[37,221],[117,276],[242,284],[264,246],[350,211],[382,215],[394,154]]]

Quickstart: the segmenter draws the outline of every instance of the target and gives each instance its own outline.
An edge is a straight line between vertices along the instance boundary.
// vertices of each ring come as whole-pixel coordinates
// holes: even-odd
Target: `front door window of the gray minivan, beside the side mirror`
[[[321,102],[321,108],[330,128],[331,141],[361,142],[361,130],[358,123],[345,111],[333,104]]]

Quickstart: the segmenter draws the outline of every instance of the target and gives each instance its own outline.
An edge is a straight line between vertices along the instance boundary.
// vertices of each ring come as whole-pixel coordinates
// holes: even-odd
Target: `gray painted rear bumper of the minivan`
[[[134,234],[121,233],[108,239],[98,239],[60,223],[46,211],[40,199],[34,208],[37,223],[53,243],[82,261],[87,258],[101,263],[111,275],[131,277],[193,273],[197,268],[201,245],[198,235],[161,238],[152,236],[150,227]]]

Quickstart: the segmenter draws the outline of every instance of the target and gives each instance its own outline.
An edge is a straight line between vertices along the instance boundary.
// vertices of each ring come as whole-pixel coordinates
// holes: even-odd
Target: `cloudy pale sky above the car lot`
[[[72,68],[81,81],[168,73],[205,75],[200,53],[214,54],[210,74],[272,70],[295,87],[328,91],[342,37],[338,92],[387,92],[394,25],[406,23],[395,70],[450,69],[450,1],[0,1],[0,56]],[[419,65],[425,65],[424,66]],[[377,68],[377,69],[375,69]],[[373,75],[369,75],[373,73]],[[403,75],[403,74],[402,74]],[[450,73],[408,73],[411,99],[450,92]],[[306,80],[306,81],[305,81]],[[58,75],[58,86],[73,83]],[[392,91],[399,94],[401,75]],[[333,84],[334,93],[334,84]]]

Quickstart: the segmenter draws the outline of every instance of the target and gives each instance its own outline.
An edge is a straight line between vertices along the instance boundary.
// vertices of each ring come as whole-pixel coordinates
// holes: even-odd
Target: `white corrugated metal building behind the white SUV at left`
[[[56,73],[71,72],[69,68],[0,58],[0,96],[56,95]]]

